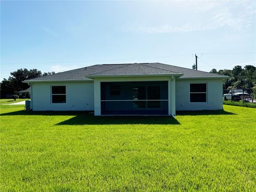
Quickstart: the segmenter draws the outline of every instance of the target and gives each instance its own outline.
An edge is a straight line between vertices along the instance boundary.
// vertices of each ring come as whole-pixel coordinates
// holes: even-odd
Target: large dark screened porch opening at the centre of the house
[[[118,95],[111,94],[111,87],[119,87]],[[167,115],[167,89],[162,81],[101,83],[101,114]]]

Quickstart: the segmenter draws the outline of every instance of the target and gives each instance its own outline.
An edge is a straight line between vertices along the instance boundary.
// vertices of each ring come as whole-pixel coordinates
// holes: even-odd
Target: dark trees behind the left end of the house
[[[37,78],[47,75],[53,75],[55,72],[47,72],[42,73],[37,69],[18,69],[10,73],[10,77],[8,79],[4,78],[0,83],[1,89],[1,98],[5,98],[6,94],[17,94],[18,91],[28,89],[29,85],[27,83],[22,83],[22,81]]]

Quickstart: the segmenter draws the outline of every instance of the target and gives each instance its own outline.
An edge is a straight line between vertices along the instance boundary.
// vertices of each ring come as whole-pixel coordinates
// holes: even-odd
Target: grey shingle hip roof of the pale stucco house
[[[91,80],[88,76],[115,76],[115,75],[168,75],[184,74],[180,78],[189,77],[227,77],[224,75],[208,73],[163,63],[126,63],[103,64],[69,70],[54,75],[29,79],[28,81],[67,81],[67,80]],[[87,77],[86,77],[87,76]],[[26,82],[26,81],[25,81]]]

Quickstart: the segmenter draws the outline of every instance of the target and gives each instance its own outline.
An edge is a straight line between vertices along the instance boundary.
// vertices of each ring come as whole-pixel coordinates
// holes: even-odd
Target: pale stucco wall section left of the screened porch
[[[32,83],[35,111],[94,110],[93,82]],[[51,85],[66,85],[66,103],[51,103]]]

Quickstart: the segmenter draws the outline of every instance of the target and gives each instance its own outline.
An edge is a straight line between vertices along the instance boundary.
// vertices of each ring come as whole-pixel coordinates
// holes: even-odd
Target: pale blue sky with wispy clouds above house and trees
[[[1,80],[163,62],[198,70],[256,65],[255,1],[1,1]]]

